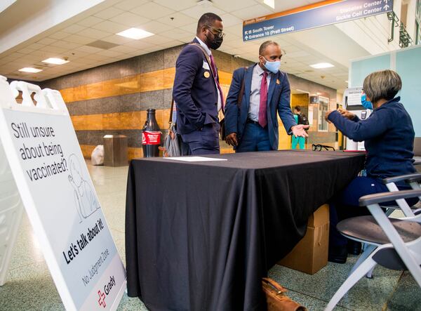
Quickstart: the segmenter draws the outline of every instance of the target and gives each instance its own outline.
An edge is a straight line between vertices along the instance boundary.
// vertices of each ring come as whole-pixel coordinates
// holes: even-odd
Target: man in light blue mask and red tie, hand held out
[[[259,62],[234,71],[225,107],[225,132],[236,152],[278,150],[278,119],[288,135],[306,137],[305,128],[295,122],[290,108],[290,85],[279,70],[282,51],[274,41],[259,48]],[[243,95],[238,103],[241,85]]]

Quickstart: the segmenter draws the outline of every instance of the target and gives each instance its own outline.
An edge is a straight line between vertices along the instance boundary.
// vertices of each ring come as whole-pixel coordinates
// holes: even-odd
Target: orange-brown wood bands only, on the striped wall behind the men
[[[229,84],[231,84],[232,74],[221,71],[218,73],[220,74],[222,91],[226,98]],[[147,77],[147,79],[145,77]],[[112,79],[109,81],[97,82],[95,84],[65,88],[60,90],[60,93],[69,106],[72,105],[72,102],[79,102],[81,100],[93,100],[133,93],[146,93],[150,91],[172,91],[174,77],[175,67],[163,71],[148,72],[147,74],[137,74],[123,79]],[[152,82],[149,84],[149,81]],[[156,109],[155,116],[159,128],[166,131],[168,119],[170,117],[170,109]],[[119,133],[126,130],[140,131],[143,124],[145,124],[146,118],[146,110],[71,116],[76,133],[81,131],[117,131]],[[137,139],[141,140],[140,133],[138,133]],[[100,144],[100,141],[98,141],[98,144]],[[129,143],[129,145],[131,144]],[[81,146],[83,146],[83,157],[90,158],[95,145]],[[221,144],[221,147],[225,148],[225,150],[223,150],[224,153],[233,152],[232,148],[228,145]],[[141,147],[129,146],[128,152],[128,159],[142,157],[143,155]]]

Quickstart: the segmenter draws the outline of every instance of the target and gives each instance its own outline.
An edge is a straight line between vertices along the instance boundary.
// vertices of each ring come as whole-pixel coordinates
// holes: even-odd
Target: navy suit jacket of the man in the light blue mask
[[[237,134],[237,140],[241,143],[248,118],[250,107],[251,79],[253,68],[258,65],[246,68],[242,67],[234,71],[231,86],[225,105],[225,133]],[[241,109],[237,105],[241,83],[244,79],[244,93],[241,100]],[[279,71],[272,74],[269,89],[267,90],[267,129],[269,131],[269,142],[272,150],[278,150],[278,119],[276,112],[282,120],[288,134],[291,126],[297,125],[290,108],[290,84],[286,72]]]

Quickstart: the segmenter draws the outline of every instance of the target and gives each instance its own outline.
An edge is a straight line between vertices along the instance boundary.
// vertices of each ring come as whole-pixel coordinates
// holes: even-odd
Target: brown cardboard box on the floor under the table
[[[324,204],[309,217],[307,232],[278,265],[314,274],[328,264],[329,206]]]

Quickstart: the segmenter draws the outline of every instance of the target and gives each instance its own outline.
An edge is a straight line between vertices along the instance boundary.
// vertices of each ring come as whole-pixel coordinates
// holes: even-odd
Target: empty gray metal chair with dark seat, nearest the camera
[[[342,220],[338,230],[352,239],[374,246],[374,251],[349,275],[326,307],[333,307],[375,265],[393,270],[406,270],[413,275],[421,287],[421,214],[394,219],[388,218],[379,205],[387,201],[397,201],[421,197],[421,190],[404,190],[370,194],[359,199],[360,206],[367,206],[373,216],[359,216]]]

